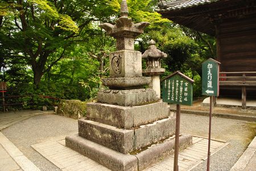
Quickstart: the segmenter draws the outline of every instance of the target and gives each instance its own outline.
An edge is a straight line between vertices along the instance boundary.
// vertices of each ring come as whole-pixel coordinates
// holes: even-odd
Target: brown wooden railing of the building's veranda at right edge
[[[256,87],[256,72],[220,72],[220,86],[240,86],[242,109],[246,109],[246,87]]]

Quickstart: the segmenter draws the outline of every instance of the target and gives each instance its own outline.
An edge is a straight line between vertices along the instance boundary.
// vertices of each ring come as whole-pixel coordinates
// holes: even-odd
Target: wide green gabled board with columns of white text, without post
[[[163,79],[163,101],[192,106],[193,80],[177,71]]]

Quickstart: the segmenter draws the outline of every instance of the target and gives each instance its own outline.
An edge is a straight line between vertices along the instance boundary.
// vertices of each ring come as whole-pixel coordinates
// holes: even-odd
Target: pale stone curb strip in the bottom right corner
[[[253,141],[251,141],[250,145],[247,147],[246,151],[243,152],[242,156],[236,164],[230,169],[230,171],[240,171],[245,170],[246,166],[249,164],[251,160],[253,160],[253,156],[256,154],[256,136]]]

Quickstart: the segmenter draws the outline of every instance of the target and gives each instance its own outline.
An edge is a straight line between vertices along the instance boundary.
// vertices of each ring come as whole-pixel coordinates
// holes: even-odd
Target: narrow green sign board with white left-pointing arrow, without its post
[[[202,65],[202,94],[218,96],[220,62],[208,59]]]

